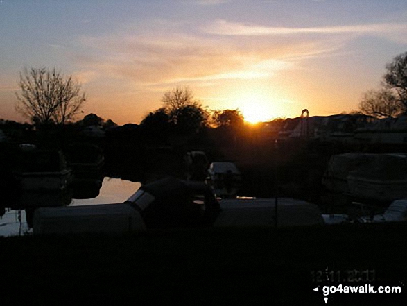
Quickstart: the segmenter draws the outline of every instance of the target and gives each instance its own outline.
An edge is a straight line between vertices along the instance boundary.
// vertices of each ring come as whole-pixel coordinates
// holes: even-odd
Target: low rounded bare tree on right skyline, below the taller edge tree
[[[404,105],[391,90],[381,89],[365,92],[359,109],[378,118],[396,117],[403,112]]]

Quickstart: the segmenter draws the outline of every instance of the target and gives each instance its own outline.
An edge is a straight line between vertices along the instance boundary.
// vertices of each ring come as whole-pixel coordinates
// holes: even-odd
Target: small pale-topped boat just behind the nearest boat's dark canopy
[[[208,169],[207,185],[220,198],[236,196],[242,184],[242,176],[233,162],[212,162]]]

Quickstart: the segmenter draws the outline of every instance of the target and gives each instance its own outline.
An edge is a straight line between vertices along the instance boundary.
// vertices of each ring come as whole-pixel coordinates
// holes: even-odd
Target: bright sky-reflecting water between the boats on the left
[[[73,198],[70,206],[114,204],[123,203],[141,186],[140,182],[130,182],[121,178],[104,178],[99,195],[96,198],[76,199]],[[21,222],[19,212],[16,210],[6,210],[6,214],[0,219],[0,236],[16,236],[31,233],[26,223],[26,213],[21,210]]]

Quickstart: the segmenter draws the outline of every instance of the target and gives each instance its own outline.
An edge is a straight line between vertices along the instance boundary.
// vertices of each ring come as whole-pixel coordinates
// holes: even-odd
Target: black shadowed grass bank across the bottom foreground
[[[406,305],[406,243],[401,223],[1,238],[0,305],[325,305],[311,289],[327,266],[401,282],[401,294],[328,305]]]

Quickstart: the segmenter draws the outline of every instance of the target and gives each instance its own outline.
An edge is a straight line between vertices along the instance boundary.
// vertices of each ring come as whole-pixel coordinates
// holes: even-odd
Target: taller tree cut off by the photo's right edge
[[[387,73],[383,77],[386,87],[397,92],[407,110],[407,52],[393,58],[386,69]]]

